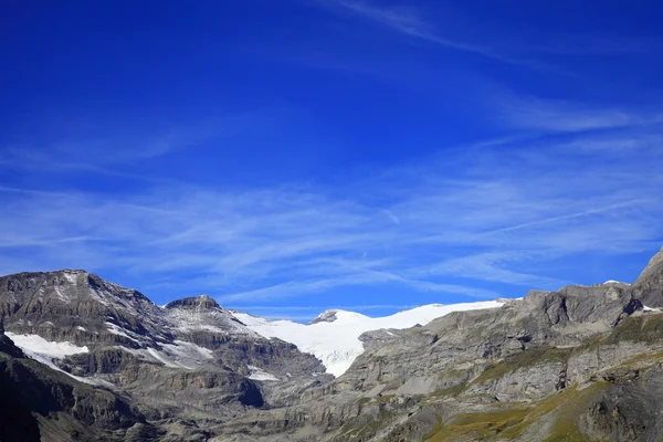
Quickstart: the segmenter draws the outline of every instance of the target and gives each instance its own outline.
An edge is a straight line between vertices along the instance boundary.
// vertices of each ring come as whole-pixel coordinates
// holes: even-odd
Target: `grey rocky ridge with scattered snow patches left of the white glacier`
[[[295,391],[329,378],[312,376],[324,372],[315,357],[259,336],[208,296],[160,308],[140,292],[83,271],[1,277],[0,317],[3,339],[36,348],[29,356],[45,364],[44,373],[130,398],[144,420],[158,422],[166,439],[206,439],[208,425],[248,408],[291,400],[261,382],[261,373]],[[61,349],[53,346],[65,343],[66,351],[53,361]],[[72,431],[81,438],[78,430]],[[52,434],[42,429],[45,440],[67,440]],[[123,438],[130,434],[118,435]]]

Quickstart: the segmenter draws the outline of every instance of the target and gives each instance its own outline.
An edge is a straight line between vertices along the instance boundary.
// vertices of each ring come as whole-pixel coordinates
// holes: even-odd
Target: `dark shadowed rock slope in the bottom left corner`
[[[75,381],[28,359],[11,339],[2,338],[0,440],[125,440],[122,435],[136,424],[151,427],[114,393]],[[49,423],[43,424],[46,421]],[[156,429],[151,432],[159,434]]]

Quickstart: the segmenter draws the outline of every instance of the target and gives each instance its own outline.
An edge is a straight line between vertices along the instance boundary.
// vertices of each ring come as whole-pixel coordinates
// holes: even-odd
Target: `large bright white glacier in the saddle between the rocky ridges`
[[[239,312],[232,314],[262,336],[293,343],[301,351],[315,355],[323,361],[327,372],[338,377],[350,368],[357,356],[364,352],[364,344],[359,340],[359,336],[365,332],[380,328],[410,328],[417,324],[425,325],[452,312],[495,308],[503,304],[499,301],[452,305],[431,304],[378,318],[354,312],[326,311],[312,324],[271,320]]]

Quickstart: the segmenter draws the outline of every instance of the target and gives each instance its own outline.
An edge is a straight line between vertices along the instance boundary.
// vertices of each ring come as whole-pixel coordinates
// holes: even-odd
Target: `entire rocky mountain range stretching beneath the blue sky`
[[[406,329],[329,311],[292,335],[206,295],[159,307],[84,271],[4,276],[0,441],[660,441],[661,307],[662,252],[633,284]],[[350,319],[338,377],[293,344]]]

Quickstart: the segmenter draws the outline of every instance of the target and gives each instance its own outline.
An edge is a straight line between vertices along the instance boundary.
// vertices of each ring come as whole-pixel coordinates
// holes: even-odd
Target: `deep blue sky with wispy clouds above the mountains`
[[[662,12],[11,1],[0,273],[301,320],[632,281],[663,245]]]

